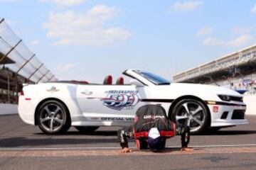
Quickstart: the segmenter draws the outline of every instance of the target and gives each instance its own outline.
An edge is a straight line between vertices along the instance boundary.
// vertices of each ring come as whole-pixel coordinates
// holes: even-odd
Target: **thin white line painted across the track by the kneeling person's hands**
[[[167,149],[177,148],[181,146],[166,147]],[[189,145],[194,148],[208,147],[256,147],[256,144],[238,144],[238,145]],[[23,150],[93,150],[93,149],[120,149],[121,147],[1,147],[0,151],[23,151]],[[135,149],[136,147],[130,147]]]

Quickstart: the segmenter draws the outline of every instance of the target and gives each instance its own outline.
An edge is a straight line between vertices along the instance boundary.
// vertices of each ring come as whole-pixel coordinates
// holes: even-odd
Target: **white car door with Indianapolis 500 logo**
[[[91,120],[133,121],[137,108],[149,98],[147,86],[78,85],[78,104],[83,115]]]

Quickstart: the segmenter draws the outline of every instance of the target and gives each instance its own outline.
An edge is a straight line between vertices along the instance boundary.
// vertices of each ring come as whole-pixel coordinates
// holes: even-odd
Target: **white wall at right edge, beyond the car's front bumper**
[[[256,115],[256,95],[245,95],[243,98],[246,104],[246,115]]]

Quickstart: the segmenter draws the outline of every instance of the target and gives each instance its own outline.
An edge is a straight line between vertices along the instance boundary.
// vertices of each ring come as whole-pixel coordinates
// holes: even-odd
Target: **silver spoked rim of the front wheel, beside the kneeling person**
[[[176,113],[176,123],[184,123],[188,121],[191,127],[191,132],[199,130],[206,121],[206,111],[203,107],[193,101],[183,103]]]

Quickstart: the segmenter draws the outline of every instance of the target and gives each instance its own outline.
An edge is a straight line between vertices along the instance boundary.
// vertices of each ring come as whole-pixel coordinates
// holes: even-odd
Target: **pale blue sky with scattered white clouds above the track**
[[[58,79],[171,79],[256,42],[255,0],[0,0],[0,17]]]

